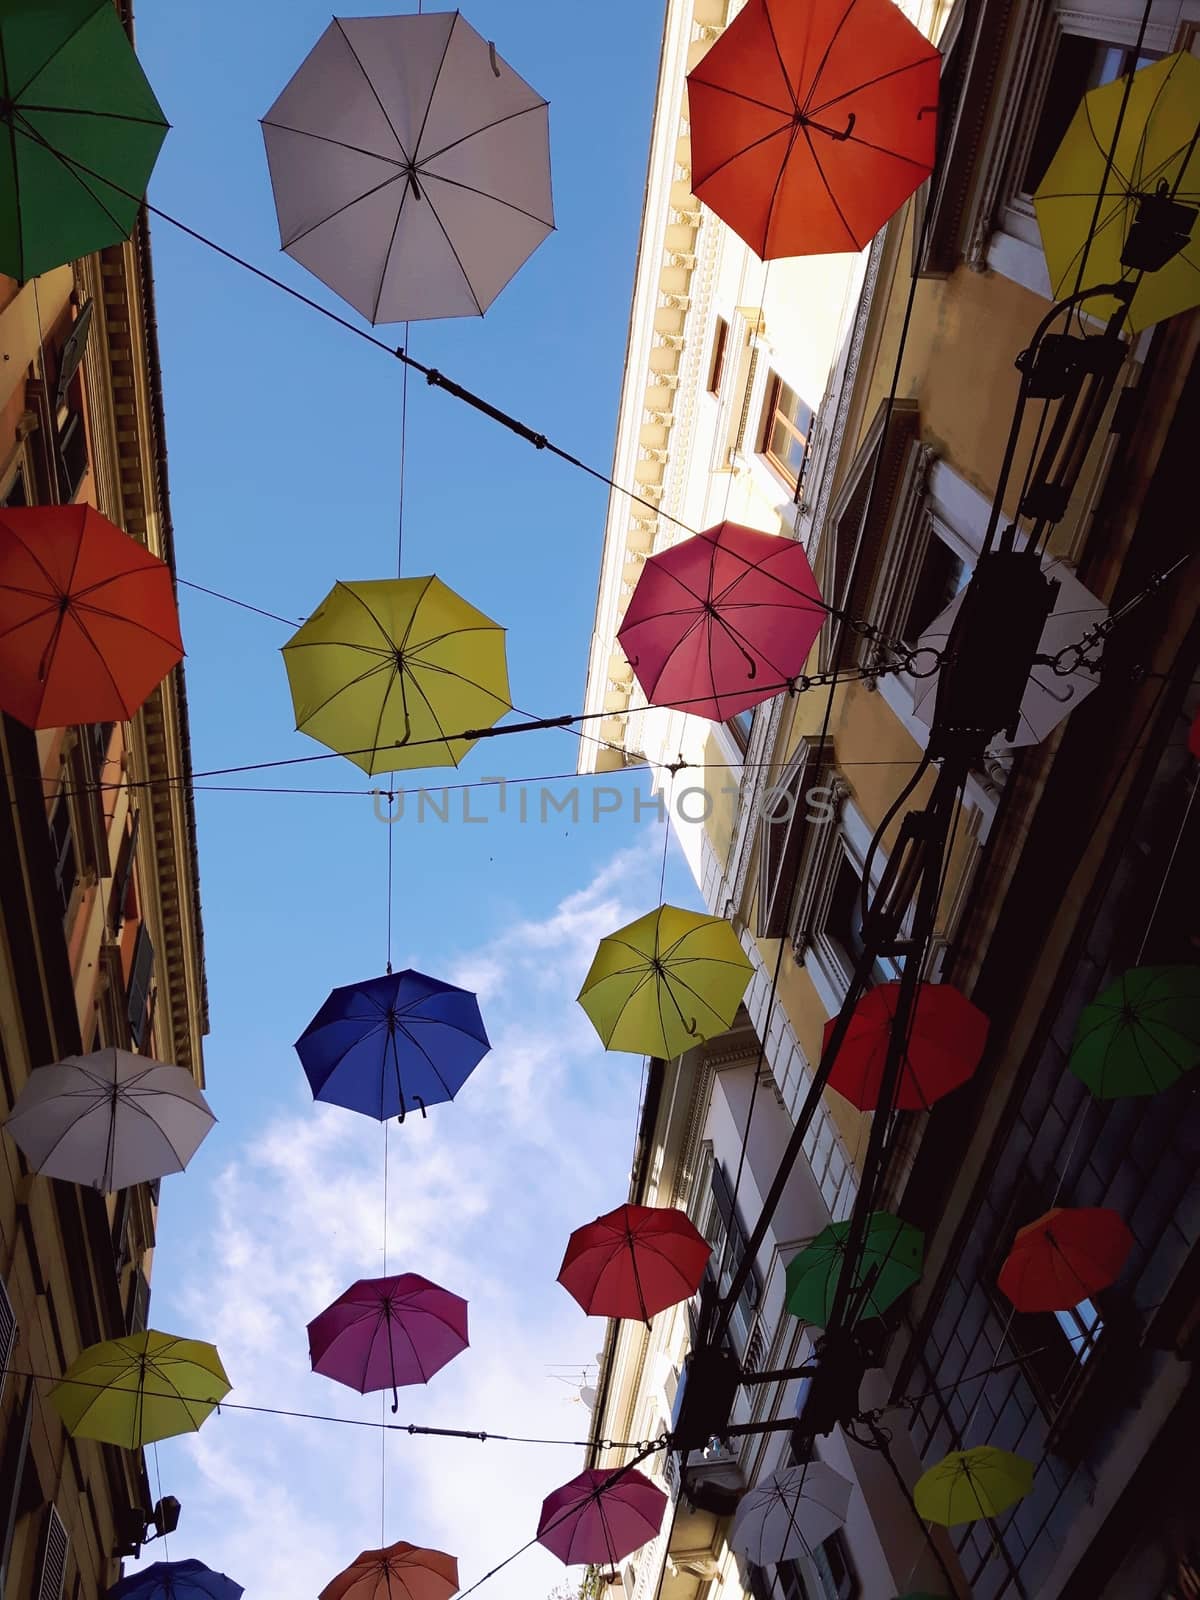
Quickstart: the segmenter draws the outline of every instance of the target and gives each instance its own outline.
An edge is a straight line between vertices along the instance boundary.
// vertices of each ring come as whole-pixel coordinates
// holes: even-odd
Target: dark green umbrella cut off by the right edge
[[[1200,966],[1134,966],[1080,1013],[1069,1066],[1096,1099],[1120,1099],[1198,1062]]]

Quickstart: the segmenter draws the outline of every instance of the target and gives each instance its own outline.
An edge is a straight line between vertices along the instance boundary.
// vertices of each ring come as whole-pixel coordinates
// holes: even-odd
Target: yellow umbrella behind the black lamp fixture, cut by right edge
[[[1125,78],[1083,96],[1034,194],[1034,210],[1054,299],[1075,291],[1082,261],[1080,288],[1134,278],[1126,326],[1136,333],[1200,304],[1200,237],[1187,243],[1200,203],[1200,59],[1181,50],[1134,72],[1128,88],[1123,117]],[[1149,224],[1158,221],[1165,232],[1154,240]],[[1154,267],[1162,258],[1157,245],[1166,240],[1170,250],[1171,235],[1181,248]],[[1110,317],[1117,301],[1093,299],[1086,309]]]

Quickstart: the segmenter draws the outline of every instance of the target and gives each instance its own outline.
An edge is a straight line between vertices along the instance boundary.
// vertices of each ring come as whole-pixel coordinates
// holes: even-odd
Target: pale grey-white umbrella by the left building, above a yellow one
[[[30,1072],[5,1126],[35,1171],[112,1194],[181,1173],[214,1122],[184,1067],[96,1050]]]

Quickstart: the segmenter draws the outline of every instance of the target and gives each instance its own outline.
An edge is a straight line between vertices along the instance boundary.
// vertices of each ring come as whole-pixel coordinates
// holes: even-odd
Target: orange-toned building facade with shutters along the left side
[[[0,502],[88,502],[173,565],[144,219],[123,245],[0,280]],[[32,733],[2,717],[0,771],[0,1115],[34,1069],[102,1046],[203,1085],[182,669],[130,723]],[[46,1379],[147,1326],[157,1206],[157,1184],[106,1197],[38,1178],[3,1139],[3,1597],[98,1600],[144,1533],[141,1453],[69,1438]]]

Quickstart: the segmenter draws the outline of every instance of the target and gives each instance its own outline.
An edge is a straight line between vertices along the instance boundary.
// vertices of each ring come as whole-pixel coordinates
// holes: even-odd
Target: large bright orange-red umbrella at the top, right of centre
[[[939,72],[891,0],[750,0],[688,74],[693,192],[763,261],[862,250],[933,171]]]

